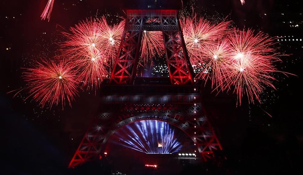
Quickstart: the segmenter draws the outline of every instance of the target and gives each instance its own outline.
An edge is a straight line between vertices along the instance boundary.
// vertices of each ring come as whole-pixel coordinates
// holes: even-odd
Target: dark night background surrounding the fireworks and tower
[[[81,92],[72,107],[65,106],[63,111],[61,107],[41,108],[31,98],[25,100],[26,91],[15,97],[15,92],[8,92],[25,87],[23,68],[60,54],[57,43],[62,41],[61,31],[96,15],[106,15],[115,23],[119,16],[124,16],[122,8],[134,5],[135,1],[55,0],[49,22],[40,18],[46,3],[47,0],[0,2],[0,109],[4,119],[1,174],[75,173],[68,170],[68,163],[98,112],[99,92]],[[209,20],[226,17],[240,29],[253,28],[273,37],[291,39],[279,44],[279,51],[289,56],[281,57],[283,63],[277,67],[297,75],[276,74],[277,90],[267,89],[261,96],[262,104],[255,105],[244,101],[236,107],[234,95],[216,97],[206,87],[204,94],[209,93],[210,99],[228,99],[228,103],[214,106],[210,102],[207,106],[215,116],[213,125],[223,146],[218,160],[223,163],[219,168],[213,164],[205,167],[209,166],[214,174],[289,174],[300,167],[303,41],[292,39],[303,39],[301,0],[246,0],[243,6],[240,0],[184,0],[183,4],[186,12],[191,13],[193,5],[195,13]],[[227,160],[221,160],[222,157]]]

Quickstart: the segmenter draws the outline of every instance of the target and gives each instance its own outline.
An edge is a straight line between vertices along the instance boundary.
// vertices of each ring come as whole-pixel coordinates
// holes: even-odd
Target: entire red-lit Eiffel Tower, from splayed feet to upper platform
[[[160,120],[175,125],[193,140],[204,160],[211,158],[214,151],[222,147],[203,108],[201,85],[193,84],[178,11],[126,12],[125,30],[112,76],[109,83],[101,86],[99,115],[85,133],[69,167],[98,159],[106,151],[108,138],[117,129],[141,120]],[[169,85],[134,85],[143,30],[163,32]]]

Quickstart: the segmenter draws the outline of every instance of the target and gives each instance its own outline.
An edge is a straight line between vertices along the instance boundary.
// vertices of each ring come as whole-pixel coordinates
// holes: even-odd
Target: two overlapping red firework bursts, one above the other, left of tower
[[[104,54],[104,26],[93,19],[80,22],[71,28],[71,34],[63,32],[66,41],[62,43],[65,56],[78,69],[79,81],[88,90],[100,87],[108,75],[108,58]],[[106,41],[107,42],[107,41]]]

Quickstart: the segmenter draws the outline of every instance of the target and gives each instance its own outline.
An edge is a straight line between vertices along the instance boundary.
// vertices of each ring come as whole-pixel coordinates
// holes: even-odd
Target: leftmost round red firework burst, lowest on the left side
[[[50,108],[59,102],[62,108],[65,101],[71,106],[71,101],[78,95],[77,75],[72,66],[60,61],[56,64],[53,61],[41,63],[37,62],[34,68],[28,68],[24,72],[24,79],[27,83],[30,96],[39,102],[42,107],[48,104]]]

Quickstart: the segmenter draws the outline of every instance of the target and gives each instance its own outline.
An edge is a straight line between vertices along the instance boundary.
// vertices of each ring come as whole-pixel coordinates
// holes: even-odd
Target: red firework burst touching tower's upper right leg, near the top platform
[[[193,18],[182,18],[180,23],[186,48],[192,62],[202,54],[201,51],[205,46],[216,45],[216,41],[219,38],[228,34],[230,21],[223,21],[218,25],[213,25],[203,18],[194,16]]]

